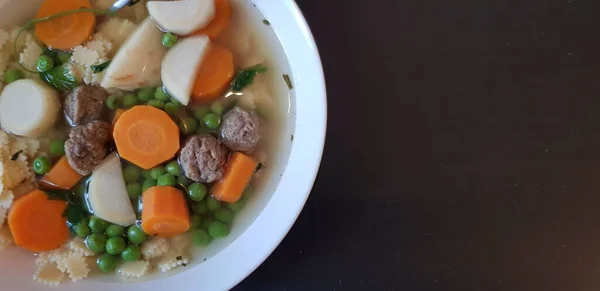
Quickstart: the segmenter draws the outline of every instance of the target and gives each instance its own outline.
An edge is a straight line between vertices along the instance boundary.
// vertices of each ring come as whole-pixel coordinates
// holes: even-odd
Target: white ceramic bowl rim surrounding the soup
[[[248,6],[250,0],[232,0]],[[41,0],[0,0],[0,28],[31,19]],[[66,283],[59,290],[164,291],[227,290],[255,270],[277,247],[298,217],[315,180],[325,141],[327,104],[319,54],[311,32],[293,0],[253,0],[271,23],[287,60],[277,62],[289,70],[294,84],[290,116],[293,142],[287,166],[273,189],[246,206],[234,225],[231,239],[196,258],[181,272],[141,282],[119,282],[114,277]],[[283,64],[282,62],[287,62]],[[282,69],[283,70],[283,69]],[[268,193],[270,192],[270,193]],[[239,219],[239,218],[237,218]],[[223,244],[226,244],[225,246]],[[32,280],[35,265],[30,253],[12,248],[0,252],[0,290],[56,290]]]

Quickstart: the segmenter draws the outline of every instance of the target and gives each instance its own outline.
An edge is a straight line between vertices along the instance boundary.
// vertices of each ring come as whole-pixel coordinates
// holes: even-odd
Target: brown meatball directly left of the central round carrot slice
[[[83,176],[90,174],[106,157],[109,139],[110,124],[104,121],[92,121],[73,128],[65,142],[71,168]]]

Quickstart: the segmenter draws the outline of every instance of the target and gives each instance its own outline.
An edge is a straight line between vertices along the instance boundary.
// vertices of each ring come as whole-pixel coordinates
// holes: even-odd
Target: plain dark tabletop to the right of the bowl
[[[600,6],[298,0],[329,121],[235,290],[599,290]]]

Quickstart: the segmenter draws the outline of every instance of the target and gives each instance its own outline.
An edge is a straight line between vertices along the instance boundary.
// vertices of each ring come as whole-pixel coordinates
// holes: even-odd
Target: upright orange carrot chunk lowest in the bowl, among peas
[[[170,186],[154,186],[142,194],[142,229],[149,235],[172,237],[190,229],[185,196]]]

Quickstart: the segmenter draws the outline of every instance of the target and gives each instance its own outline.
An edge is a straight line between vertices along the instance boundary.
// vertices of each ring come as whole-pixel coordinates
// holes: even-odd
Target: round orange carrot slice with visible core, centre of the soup
[[[143,169],[170,160],[179,150],[179,128],[164,111],[135,106],[115,123],[113,138],[119,155]]]

